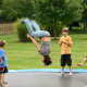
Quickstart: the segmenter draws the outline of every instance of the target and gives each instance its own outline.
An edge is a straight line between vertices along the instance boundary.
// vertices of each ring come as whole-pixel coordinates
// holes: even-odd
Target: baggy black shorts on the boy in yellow
[[[65,64],[67,64],[69,66],[72,65],[71,54],[61,55],[61,66],[65,66]]]

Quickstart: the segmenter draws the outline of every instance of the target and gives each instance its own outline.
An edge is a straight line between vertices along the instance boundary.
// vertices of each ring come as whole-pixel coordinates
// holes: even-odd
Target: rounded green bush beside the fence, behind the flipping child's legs
[[[21,24],[21,18],[17,18],[17,21],[15,22],[15,27],[17,30],[17,36],[18,36],[20,41],[22,41],[22,42],[30,41],[30,39],[27,39],[27,36],[26,36],[28,34],[26,25]]]

